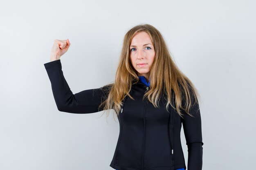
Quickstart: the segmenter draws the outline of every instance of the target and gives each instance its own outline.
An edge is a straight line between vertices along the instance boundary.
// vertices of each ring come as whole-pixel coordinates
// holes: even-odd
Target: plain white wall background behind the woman
[[[204,170],[255,169],[256,2],[0,2],[0,170],[112,170],[112,113],[58,111],[43,64],[54,39],[73,93],[114,81],[125,33],[151,24],[200,92]],[[187,163],[183,130],[182,147]]]

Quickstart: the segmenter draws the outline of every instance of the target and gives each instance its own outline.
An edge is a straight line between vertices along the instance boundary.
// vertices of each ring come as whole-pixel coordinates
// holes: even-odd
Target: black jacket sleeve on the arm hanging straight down
[[[195,103],[195,97],[192,97],[192,106],[189,116],[184,112],[182,125],[188,147],[188,170],[202,170],[203,142],[201,116],[198,103]]]

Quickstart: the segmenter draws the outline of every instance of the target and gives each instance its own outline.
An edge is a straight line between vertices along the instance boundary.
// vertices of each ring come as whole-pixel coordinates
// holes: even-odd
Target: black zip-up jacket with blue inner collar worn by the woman
[[[103,88],[84,90],[73,94],[62,72],[61,60],[44,64],[58,110],[68,113],[96,113],[106,99]],[[139,81],[132,85],[118,116],[119,138],[110,166],[118,170],[176,170],[185,168],[180,141],[183,125],[188,146],[188,169],[202,169],[202,130],[198,104],[191,108],[195,117],[180,117],[170,106],[165,108],[162,97],[159,108],[142,99],[147,86]],[[99,109],[99,110],[98,110]],[[171,113],[171,114],[170,114]]]

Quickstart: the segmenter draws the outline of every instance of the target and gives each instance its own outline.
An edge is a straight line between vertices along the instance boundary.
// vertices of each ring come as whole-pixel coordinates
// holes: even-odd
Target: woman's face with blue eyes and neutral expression
[[[130,60],[133,68],[148,80],[148,72],[155,58],[155,49],[148,33],[134,35],[130,44]]]

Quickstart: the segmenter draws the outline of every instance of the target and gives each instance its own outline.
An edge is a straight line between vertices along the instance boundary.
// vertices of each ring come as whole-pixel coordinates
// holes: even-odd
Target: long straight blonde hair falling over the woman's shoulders
[[[190,108],[192,101],[198,103],[199,93],[191,80],[176,66],[161,33],[150,24],[134,26],[124,36],[115,82],[103,86],[105,88],[102,89],[106,90],[108,97],[101,102],[99,108],[103,108],[102,110],[113,109],[119,115],[123,104],[122,100],[126,95],[133,99],[129,92],[132,82],[134,80],[135,83],[139,81],[139,73],[131,64],[129,47],[135,33],[141,31],[148,33],[155,49],[155,59],[148,73],[150,90],[144,94],[144,98],[147,97],[148,101],[155,108],[158,108],[160,98],[166,96],[166,110],[168,110],[168,105],[171,104],[181,117],[183,117],[182,110],[193,117]]]

